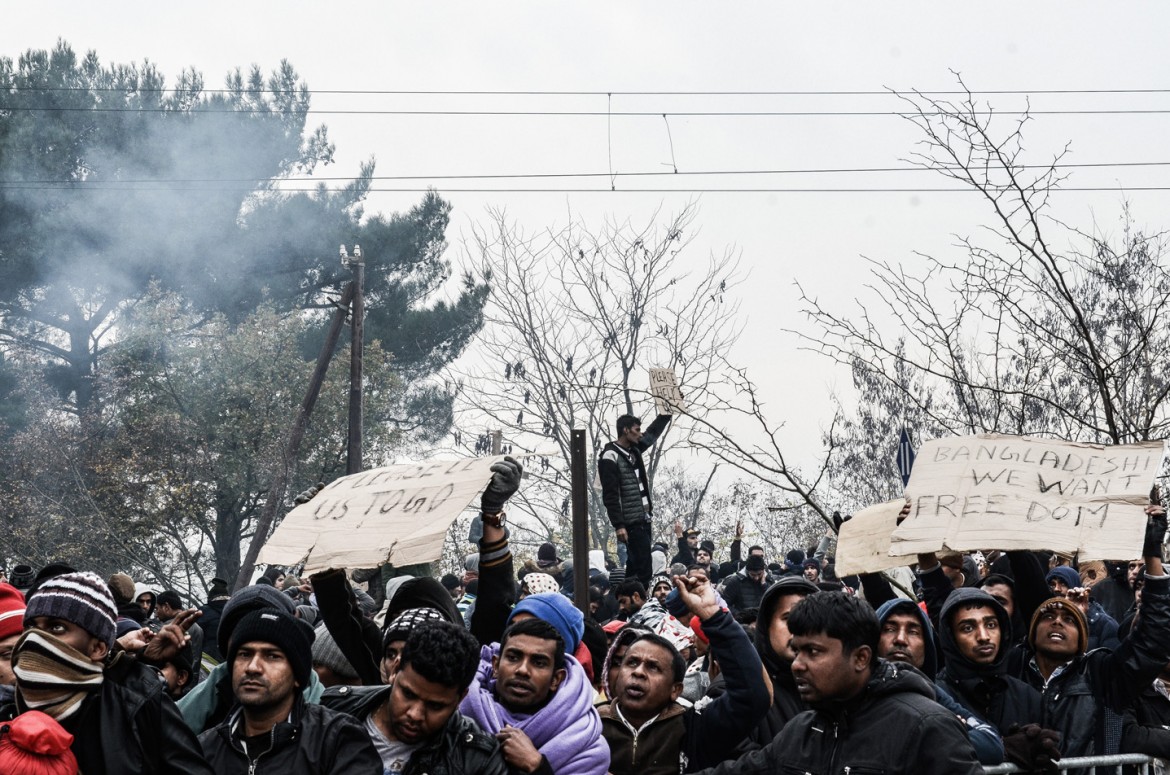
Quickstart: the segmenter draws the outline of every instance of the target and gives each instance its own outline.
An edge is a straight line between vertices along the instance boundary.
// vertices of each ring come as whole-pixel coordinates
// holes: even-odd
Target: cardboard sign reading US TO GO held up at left
[[[432,562],[502,457],[386,466],[343,476],[297,506],[260,550],[261,563],[372,568]]]

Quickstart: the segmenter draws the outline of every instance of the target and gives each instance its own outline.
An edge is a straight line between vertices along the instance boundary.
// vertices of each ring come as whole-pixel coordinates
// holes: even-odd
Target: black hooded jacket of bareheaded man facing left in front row
[[[858,697],[806,711],[764,748],[703,775],[982,775],[958,720],[934,701],[925,675],[878,659]]]

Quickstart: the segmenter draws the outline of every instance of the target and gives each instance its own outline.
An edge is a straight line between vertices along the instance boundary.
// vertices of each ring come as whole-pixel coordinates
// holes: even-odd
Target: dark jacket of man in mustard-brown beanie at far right
[[[1041,723],[1060,733],[1062,756],[1115,754],[1121,714],[1170,661],[1170,577],[1147,578],[1142,615],[1116,651],[1074,657],[1045,684],[1034,661],[1025,678],[1041,691]]]

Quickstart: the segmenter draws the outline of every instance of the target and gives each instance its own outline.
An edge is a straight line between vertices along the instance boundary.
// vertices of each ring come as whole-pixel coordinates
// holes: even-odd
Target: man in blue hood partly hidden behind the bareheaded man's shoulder
[[[938,672],[935,651],[935,631],[930,618],[916,603],[897,598],[882,603],[878,609],[878,656],[889,661],[914,666],[931,681]],[[994,727],[978,718],[935,685],[935,701],[954,713],[966,729],[980,764],[1000,764],[1004,761],[1004,741]]]

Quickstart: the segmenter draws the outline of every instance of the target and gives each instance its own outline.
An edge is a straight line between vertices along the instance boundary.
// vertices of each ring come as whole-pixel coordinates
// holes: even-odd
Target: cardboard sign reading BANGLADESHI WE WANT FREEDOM
[[[1082,560],[1141,553],[1162,441],[1102,446],[1016,435],[927,441],[890,555],[1049,549]]]

